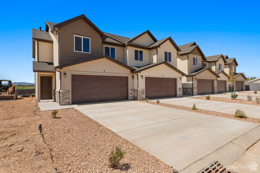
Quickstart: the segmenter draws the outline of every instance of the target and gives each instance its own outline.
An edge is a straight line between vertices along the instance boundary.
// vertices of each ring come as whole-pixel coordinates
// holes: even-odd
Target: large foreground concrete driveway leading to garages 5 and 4
[[[215,160],[231,164],[246,151],[246,146],[260,139],[258,135],[249,136],[250,140],[241,138],[251,131],[260,134],[256,123],[137,101],[72,106],[183,172],[198,172]],[[237,139],[239,142],[232,143]],[[235,152],[233,145],[237,146]]]

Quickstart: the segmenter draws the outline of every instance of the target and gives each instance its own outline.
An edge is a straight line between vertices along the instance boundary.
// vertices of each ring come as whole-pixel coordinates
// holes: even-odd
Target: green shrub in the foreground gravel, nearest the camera
[[[122,151],[120,146],[113,148],[113,151],[111,151],[108,160],[110,163],[110,167],[118,169],[119,162],[124,157],[124,155],[125,152]]]

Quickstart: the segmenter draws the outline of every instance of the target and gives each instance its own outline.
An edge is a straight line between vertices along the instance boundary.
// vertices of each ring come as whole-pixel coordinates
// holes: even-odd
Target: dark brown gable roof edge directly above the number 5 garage
[[[120,65],[120,66],[122,66],[122,67],[125,67],[125,68],[127,68],[128,70],[131,70],[131,71],[134,71],[134,70],[135,70],[134,68],[132,68],[132,67],[130,67],[130,66],[124,64],[124,63],[121,63],[120,61],[118,61],[118,60],[116,60],[116,59],[114,59],[114,58],[111,58],[111,57],[109,57],[109,56],[107,56],[107,55],[102,55],[102,56],[99,56],[99,57],[88,58],[88,59],[83,59],[83,60],[80,60],[80,61],[75,61],[75,62],[72,62],[72,63],[67,63],[67,64],[63,64],[63,65],[58,65],[58,66],[53,67],[53,68],[62,69],[62,68],[64,68],[64,67],[73,66],[73,65],[77,65],[77,64],[81,64],[81,63],[86,63],[86,62],[90,62],[90,61],[94,61],[94,60],[98,60],[98,59],[103,59],[103,58],[104,58],[104,59],[107,59],[107,60],[109,60],[109,61],[112,61],[112,62],[114,62],[114,63],[116,63],[116,64],[118,64],[118,65]]]

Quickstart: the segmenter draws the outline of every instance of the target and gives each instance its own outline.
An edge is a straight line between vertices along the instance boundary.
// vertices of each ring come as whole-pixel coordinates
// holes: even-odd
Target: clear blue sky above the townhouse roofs
[[[127,3],[126,3],[127,2]],[[54,4],[53,6],[51,6]],[[150,30],[205,56],[235,57],[237,72],[260,77],[259,1],[3,1],[0,79],[34,83],[32,28],[85,14],[100,30],[132,38]]]

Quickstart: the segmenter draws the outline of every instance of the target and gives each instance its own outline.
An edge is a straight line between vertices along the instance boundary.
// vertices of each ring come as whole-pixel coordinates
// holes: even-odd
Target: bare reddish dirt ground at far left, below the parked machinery
[[[56,172],[33,105],[32,97],[0,101],[0,172]]]

